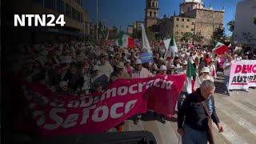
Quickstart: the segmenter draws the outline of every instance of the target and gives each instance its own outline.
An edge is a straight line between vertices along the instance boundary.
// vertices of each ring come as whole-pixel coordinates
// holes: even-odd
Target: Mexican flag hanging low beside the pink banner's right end
[[[186,68],[186,91],[188,94],[191,94],[193,92],[193,76],[195,75],[195,70],[194,66],[190,62],[190,60],[187,63],[187,68]]]

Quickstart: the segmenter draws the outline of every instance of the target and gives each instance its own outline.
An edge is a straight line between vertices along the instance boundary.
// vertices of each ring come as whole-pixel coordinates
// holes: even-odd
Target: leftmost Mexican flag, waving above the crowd
[[[116,43],[117,46],[134,48],[134,38],[130,38],[127,34],[119,34],[119,38]]]

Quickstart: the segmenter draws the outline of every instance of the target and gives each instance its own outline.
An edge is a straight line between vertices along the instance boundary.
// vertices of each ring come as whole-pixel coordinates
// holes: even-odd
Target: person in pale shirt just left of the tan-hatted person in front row
[[[100,65],[98,66],[98,71],[101,74],[105,74],[106,77],[110,79],[110,75],[113,72],[113,67],[106,62],[105,57],[105,55],[100,56]]]

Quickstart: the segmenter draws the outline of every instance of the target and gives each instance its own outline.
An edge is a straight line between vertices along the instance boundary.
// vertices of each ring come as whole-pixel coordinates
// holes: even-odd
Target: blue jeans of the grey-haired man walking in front
[[[184,123],[183,131],[182,144],[207,144],[207,131],[194,130],[186,123]]]

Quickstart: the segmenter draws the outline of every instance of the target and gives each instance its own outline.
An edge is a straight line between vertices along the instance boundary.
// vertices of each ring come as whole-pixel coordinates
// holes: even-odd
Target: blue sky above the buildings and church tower
[[[137,20],[143,20],[146,8],[146,0],[98,0],[99,20],[106,23],[106,26],[117,26],[126,30],[128,25]],[[158,16],[179,13],[179,4],[183,0],[158,0]],[[234,19],[235,9],[241,0],[203,0],[206,7],[212,6],[214,10],[222,10],[224,6],[224,26],[226,34],[230,35],[227,22]],[[83,7],[90,15],[90,19],[96,19],[96,0],[83,0]]]

